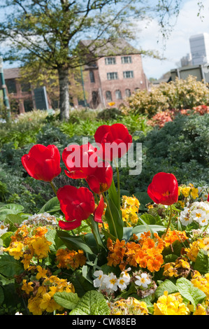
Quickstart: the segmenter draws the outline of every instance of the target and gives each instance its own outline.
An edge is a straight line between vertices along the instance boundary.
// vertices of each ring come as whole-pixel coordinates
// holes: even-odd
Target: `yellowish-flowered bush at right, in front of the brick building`
[[[159,87],[138,90],[128,99],[129,111],[144,113],[151,118],[166,109],[193,109],[194,106],[209,104],[209,90],[205,83],[189,76],[186,80],[176,78],[170,83],[161,83]]]

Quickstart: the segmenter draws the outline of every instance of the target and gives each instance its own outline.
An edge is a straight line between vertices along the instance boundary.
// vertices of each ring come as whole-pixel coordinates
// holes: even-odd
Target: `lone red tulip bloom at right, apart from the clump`
[[[169,206],[178,201],[178,181],[173,174],[159,172],[154,175],[147,193],[155,203]]]

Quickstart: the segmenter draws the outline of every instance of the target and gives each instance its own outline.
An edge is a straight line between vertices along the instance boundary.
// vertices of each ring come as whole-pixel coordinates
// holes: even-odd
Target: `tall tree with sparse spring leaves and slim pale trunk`
[[[171,7],[174,1],[175,6]],[[0,5],[0,41],[4,61],[22,64],[39,62],[57,70],[62,120],[69,119],[69,69],[86,64],[89,49],[96,41],[114,42],[134,38],[134,20],[157,13],[178,13],[181,0],[159,0],[148,6],[143,0],[6,0]],[[152,2],[152,1],[151,1]],[[144,4],[145,3],[145,4]],[[170,3],[168,5],[168,3]],[[79,46],[92,36],[89,48]],[[98,43],[98,47],[101,46]],[[92,59],[91,59],[92,60]]]

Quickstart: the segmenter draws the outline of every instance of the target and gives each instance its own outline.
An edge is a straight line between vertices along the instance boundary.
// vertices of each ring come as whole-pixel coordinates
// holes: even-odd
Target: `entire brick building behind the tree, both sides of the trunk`
[[[117,107],[124,104],[125,99],[134,91],[149,87],[139,50],[124,39],[118,39],[114,44],[99,41],[96,48],[90,40],[80,41],[80,45],[89,62],[81,69],[80,83],[83,85],[85,97],[77,99],[72,95],[71,106],[104,109],[110,107],[108,103],[114,102]],[[20,69],[4,69],[3,73],[10,107],[17,109],[17,113],[36,109],[34,90],[29,84],[20,83]],[[49,97],[48,103],[51,108]]]

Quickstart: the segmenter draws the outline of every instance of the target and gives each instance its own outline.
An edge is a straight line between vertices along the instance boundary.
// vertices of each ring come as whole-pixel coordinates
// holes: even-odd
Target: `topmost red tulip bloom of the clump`
[[[125,125],[101,125],[97,128],[94,139],[101,146],[98,155],[103,160],[112,161],[113,158],[121,158],[129,150],[132,137]]]

